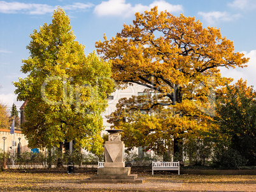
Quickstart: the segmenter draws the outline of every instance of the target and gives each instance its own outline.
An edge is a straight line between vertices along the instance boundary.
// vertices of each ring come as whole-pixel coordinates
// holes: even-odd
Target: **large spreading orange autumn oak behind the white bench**
[[[248,62],[220,29],[204,29],[194,17],[159,13],[157,7],[136,13],[133,25],[124,24],[110,40],[104,35],[96,48],[111,60],[119,87],[135,83],[146,88],[144,96],[120,100],[109,116],[110,123],[124,129],[126,146],[164,152],[173,138],[174,153],[180,154],[183,137],[207,128],[217,87],[231,81],[221,77],[219,68]]]

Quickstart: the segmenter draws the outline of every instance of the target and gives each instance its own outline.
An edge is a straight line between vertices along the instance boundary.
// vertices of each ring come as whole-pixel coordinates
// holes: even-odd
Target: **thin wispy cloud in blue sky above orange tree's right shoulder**
[[[205,12],[198,12],[197,15],[201,15],[204,20],[206,20],[209,24],[214,24],[217,21],[231,21],[235,20],[236,18],[240,17],[239,14],[230,15],[227,12],[220,12],[220,11],[211,11],[208,13]]]

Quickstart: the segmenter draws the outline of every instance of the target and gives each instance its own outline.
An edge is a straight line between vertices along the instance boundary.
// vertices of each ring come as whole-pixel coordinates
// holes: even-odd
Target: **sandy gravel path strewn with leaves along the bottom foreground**
[[[79,181],[63,181],[44,184],[40,188],[55,188],[60,191],[256,191],[256,184],[183,183],[148,177],[143,184],[80,184]]]

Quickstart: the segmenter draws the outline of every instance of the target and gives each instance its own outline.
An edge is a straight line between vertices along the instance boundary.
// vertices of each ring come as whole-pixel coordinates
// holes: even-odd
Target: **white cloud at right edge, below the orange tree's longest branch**
[[[233,83],[236,83],[238,79],[243,78],[247,80],[247,86],[253,85],[256,88],[256,50],[252,50],[249,53],[243,51],[245,57],[249,57],[250,60],[247,63],[248,67],[240,68],[236,67],[236,69],[221,69],[222,76],[226,78],[233,78]]]

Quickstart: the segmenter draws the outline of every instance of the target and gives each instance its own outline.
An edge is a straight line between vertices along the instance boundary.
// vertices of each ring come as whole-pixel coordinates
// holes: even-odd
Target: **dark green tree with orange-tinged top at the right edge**
[[[217,102],[217,142],[223,144],[223,152],[234,149],[248,165],[256,165],[256,92],[240,79],[224,93]]]

